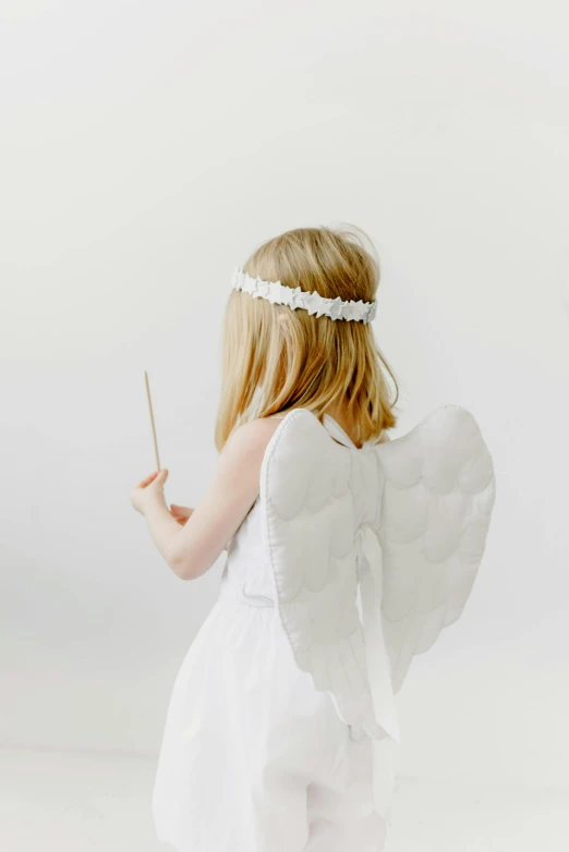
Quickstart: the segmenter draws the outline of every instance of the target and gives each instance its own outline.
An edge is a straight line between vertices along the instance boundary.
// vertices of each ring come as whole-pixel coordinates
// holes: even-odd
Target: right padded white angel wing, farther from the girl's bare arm
[[[432,412],[376,448],[383,628],[397,693],[415,654],[460,617],[484,553],[495,501],[492,457],[472,414]]]

